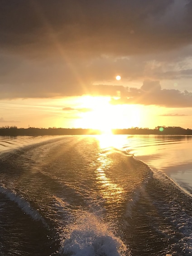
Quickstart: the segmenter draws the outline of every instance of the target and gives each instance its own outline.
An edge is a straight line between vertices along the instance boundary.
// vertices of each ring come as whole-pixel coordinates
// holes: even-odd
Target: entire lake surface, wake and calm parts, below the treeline
[[[0,255],[192,255],[192,136],[0,137]]]

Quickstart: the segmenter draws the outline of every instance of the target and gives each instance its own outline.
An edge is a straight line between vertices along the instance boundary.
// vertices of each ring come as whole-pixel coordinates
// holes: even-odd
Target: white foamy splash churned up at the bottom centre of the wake
[[[110,226],[93,213],[83,212],[66,227],[60,253],[70,256],[129,256]]]

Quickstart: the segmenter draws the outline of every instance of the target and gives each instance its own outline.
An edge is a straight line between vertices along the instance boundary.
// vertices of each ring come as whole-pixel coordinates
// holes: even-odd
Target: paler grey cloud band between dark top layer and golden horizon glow
[[[172,65],[171,65],[172,64]],[[122,81],[140,79],[192,79],[189,63],[177,63],[181,70],[175,70],[173,63],[150,61],[148,57],[96,58],[91,60],[71,60],[70,63],[59,58],[31,61],[19,56],[0,55],[0,99],[5,98],[48,98],[97,95],[116,96],[125,87],[98,85],[96,81],[115,80],[120,74]],[[173,67],[173,68],[172,68]],[[120,84],[120,82],[119,82]],[[110,93],[109,93],[110,92]]]

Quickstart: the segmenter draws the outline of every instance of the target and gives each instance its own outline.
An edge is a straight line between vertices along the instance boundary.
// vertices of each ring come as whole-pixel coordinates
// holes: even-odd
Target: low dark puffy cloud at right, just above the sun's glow
[[[162,89],[159,81],[144,81],[140,89],[127,88],[126,95],[111,104],[142,104],[166,107],[192,107],[192,92]]]

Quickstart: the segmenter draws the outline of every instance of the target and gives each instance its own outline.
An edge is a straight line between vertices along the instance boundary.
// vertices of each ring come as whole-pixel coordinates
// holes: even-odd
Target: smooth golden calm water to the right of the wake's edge
[[[136,158],[166,174],[192,193],[192,136],[143,136],[131,139]]]

